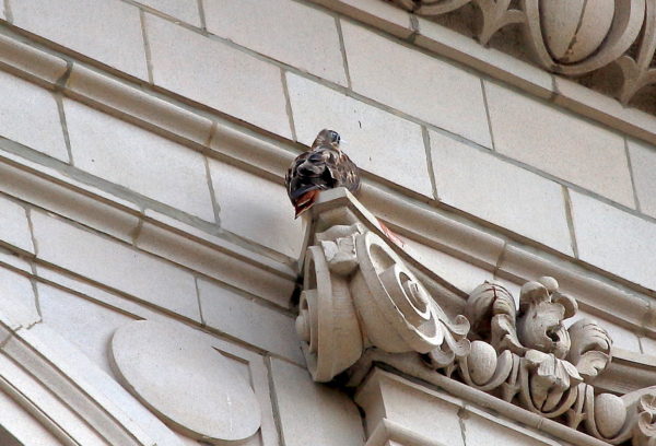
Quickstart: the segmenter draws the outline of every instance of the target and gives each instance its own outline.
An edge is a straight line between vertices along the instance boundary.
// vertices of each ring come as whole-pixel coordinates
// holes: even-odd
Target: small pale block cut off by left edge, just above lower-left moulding
[[[40,319],[28,278],[0,268],[0,313],[23,327]]]

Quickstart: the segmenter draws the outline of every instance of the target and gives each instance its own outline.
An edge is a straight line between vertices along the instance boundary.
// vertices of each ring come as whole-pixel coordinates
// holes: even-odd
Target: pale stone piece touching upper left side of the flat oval
[[[118,327],[134,319],[58,287],[38,283],[37,290],[44,324],[112,374],[107,356],[112,334]]]

